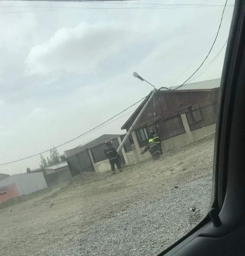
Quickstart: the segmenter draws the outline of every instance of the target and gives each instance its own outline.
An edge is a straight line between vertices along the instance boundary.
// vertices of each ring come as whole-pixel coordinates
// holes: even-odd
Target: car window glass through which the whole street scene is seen
[[[1,1],[1,255],[157,255],[206,215],[234,1]]]

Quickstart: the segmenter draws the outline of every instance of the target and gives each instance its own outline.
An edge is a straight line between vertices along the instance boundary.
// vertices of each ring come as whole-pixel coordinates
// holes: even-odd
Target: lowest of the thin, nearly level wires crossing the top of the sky
[[[67,11],[67,10],[97,10],[97,9],[178,9],[178,8],[200,8],[200,7],[220,7],[224,5],[204,5],[204,6],[184,6],[184,7],[162,7],[160,6],[145,6],[145,7],[112,7],[112,8],[100,8],[100,7],[77,7],[77,8],[68,8],[68,9],[48,9],[48,10],[32,10],[32,11],[15,11],[15,12],[0,12],[0,14],[4,13],[25,13],[25,12],[49,12],[49,11]],[[229,6],[234,6],[234,5],[229,5]]]

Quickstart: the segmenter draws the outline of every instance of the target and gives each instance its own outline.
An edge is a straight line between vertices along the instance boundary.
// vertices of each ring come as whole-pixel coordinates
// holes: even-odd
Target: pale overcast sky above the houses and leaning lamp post
[[[210,50],[224,7],[160,4],[220,2],[225,0],[1,1],[0,164],[69,141],[148,95],[150,85],[133,77],[134,71],[156,88],[183,83]],[[190,82],[221,77],[225,47],[217,54],[228,38],[232,12],[227,6],[205,68]],[[103,134],[124,134],[121,127],[136,107],[59,147],[60,155]],[[39,163],[37,155],[1,165],[0,173],[24,173]]]

